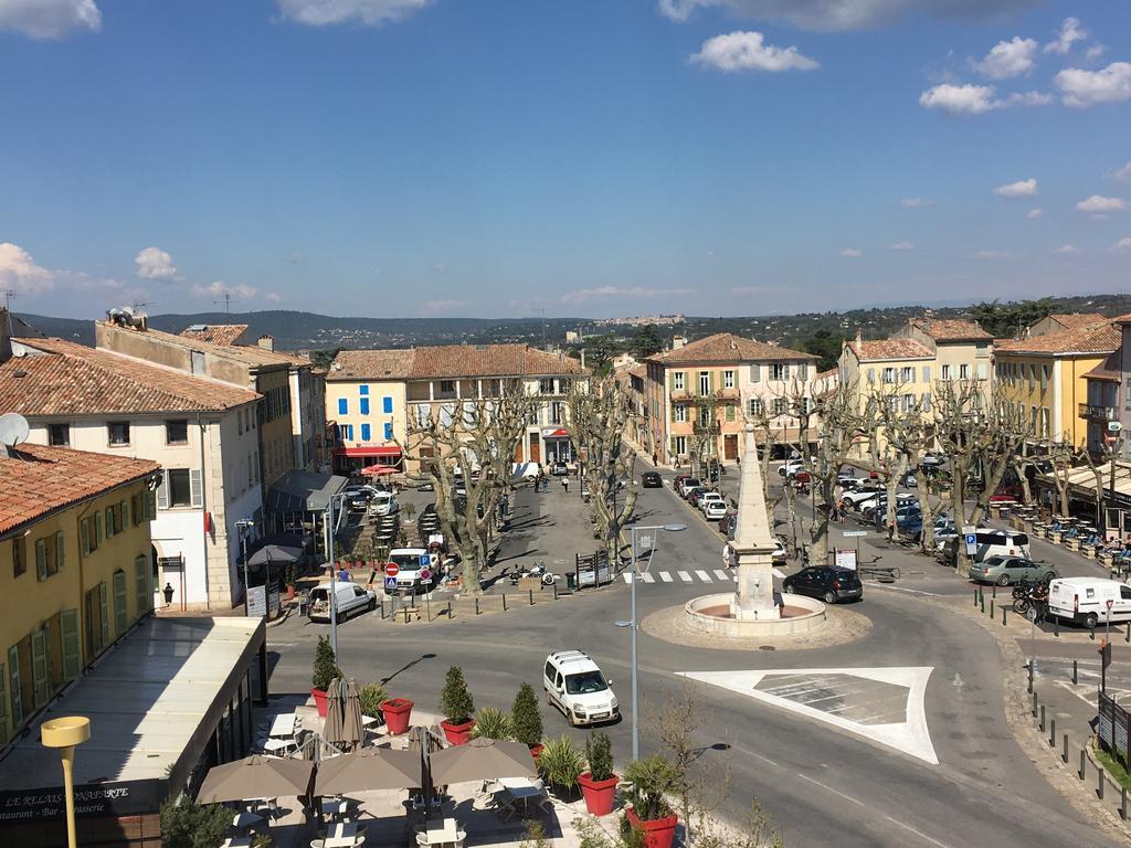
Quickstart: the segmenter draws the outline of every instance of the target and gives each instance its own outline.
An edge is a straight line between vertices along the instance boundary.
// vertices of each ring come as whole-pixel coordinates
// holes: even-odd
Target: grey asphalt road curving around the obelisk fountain
[[[731,485],[735,482],[733,475]],[[681,522],[682,533],[661,536],[653,570],[713,574],[722,565],[722,538],[667,487],[644,490],[640,523]],[[532,559],[564,570],[572,554],[592,550],[585,508],[577,493],[524,491],[516,499],[518,528],[504,544],[502,568]],[[866,545],[873,544],[865,540]],[[882,543],[874,543],[880,550]],[[701,704],[697,761],[719,787],[720,808],[740,816],[758,798],[793,846],[838,845],[1100,845],[1103,840],[1038,775],[1017,746],[1002,711],[1000,681],[1017,673],[1000,667],[994,644],[956,615],[967,587],[949,570],[883,553],[884,564],[907,557],[922,580],[949,591],[867,583],[856,606],[873,622],[856,642],[805,651],[729,651],[675,646],[640,633],[644,753],[657,749],[648,716],[681,699],[692,686]],[[903,570],[903,565],[900,566]],[[910,590],[908,590],[910,589]],[[719,581],[655,581],[639,585],[640,617],[705,594],[727,591]],[[629,587],[613,585],[556,604],[516,608],[503,615],[431,626],[395,626],[366,616],[338,631],[340,665],[359,680],[387,680],[397,695],[435,711],[443,675],[460,665],[478,706],[507,708],[518,685],[541,690],[541,667],[552,650],[587,650],[614,680],[622,710],[630,711],[629,632],[613,622],[629,617]],[[292,618],[269,631],[273,692],[303,692],[310,685],[314,638],[326,625]],[[680,673],[760,669],[853,669],[930,667],[925,713],[939,764],[849,734],[795,711],[718,686],[689,684]],[[543,708],[547,736],[570,730],[560,713]],[[630,721],[606,728],[618,762],[630,750]]]

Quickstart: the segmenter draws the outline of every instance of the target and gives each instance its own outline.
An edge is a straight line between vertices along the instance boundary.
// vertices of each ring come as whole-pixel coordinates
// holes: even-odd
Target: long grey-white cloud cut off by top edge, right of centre
[[[996,17],[1035,6],[1037,0],[657,0],[661,14],[684,21],[702,8],[722,8],[746,18],[784,20],[803,29],[862,29],[891,24],[909,14],[942,18]]]

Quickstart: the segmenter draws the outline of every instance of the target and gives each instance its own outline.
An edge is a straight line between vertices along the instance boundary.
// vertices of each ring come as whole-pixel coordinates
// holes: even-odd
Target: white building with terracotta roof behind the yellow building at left
[[[236,521],[262,513],[260,396],[61,339],[10,343],[0,327],[0,413],[29,441],[161,464],[153,568],[173,607],[231,608],[243,597]]]

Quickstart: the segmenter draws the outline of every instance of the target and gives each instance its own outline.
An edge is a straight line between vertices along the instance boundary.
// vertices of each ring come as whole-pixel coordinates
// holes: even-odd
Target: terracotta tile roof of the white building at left
[[[63,339],[17,339],[43,355],[0,364],[0,412],[44,415],[211,412],[259,399],[228,383],[192,377]]]

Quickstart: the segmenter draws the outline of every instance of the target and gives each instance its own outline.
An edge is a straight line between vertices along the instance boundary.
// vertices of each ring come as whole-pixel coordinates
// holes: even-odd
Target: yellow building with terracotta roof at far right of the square
[[[1110,321],[998,341],[995,370],[1002,397],[1025,414],[1035,439],[1082,447],[1088,422],[1114,415],[1114,409],[1089,406],[1087,374],[1120,344],[1120,330]]]

